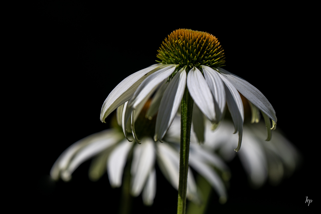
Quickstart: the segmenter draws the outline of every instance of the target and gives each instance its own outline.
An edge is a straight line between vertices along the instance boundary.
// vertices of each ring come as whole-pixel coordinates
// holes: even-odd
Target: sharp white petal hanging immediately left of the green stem
[[[186,86],[185,68],[180,69],[168,84],[160,101],[160,107],[157,114],[154,135],[155,141],[163,139],[176,116]]]

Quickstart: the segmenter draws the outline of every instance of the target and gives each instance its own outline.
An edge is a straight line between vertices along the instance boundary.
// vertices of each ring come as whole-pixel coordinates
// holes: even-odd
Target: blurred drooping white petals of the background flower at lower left
[[[180,123],[179,119],[175,121]],[[179,135],[176,137],[179,139]],[[178,189],[179,144],[166,141],[163,143],[154,142],[151,137],[143,137],[142,144],[134,142],[129,142],[123,132],[116,128],[92,134],[68,147],[52,166],[50,175],[55,180],[61,177],[64,181],[69,181],[79,165],[95,156],[89,170],[91,180],[98,180],[107,168],[110,185],[120,187],[127,156],[133,149],[130,169],[131,193],[133,196],[138,196],[142,192],[144,204],[151,205],[156,194],[155,160],[167,180],[175,189]],[[221,172],[228,173],[229,169],[224,162],[215,154],[193,144],[190,149],[190,163],[195,171],[208,180],[218,193],[220,201],[224,203],[227,198],[226,189],[220,176],[212,167],[215,166]],[[194,176],[190,169],[188,171],[187,198],[196,203],[200,201]]]

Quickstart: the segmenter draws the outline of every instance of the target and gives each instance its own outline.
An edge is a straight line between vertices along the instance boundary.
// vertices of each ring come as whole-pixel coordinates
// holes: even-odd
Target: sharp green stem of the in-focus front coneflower
[[[181,138],[179,152],[179,184],[177,214],[185,214],[189,141],[191,137],[193,99],[185,87],[183,99],[181,101]]]

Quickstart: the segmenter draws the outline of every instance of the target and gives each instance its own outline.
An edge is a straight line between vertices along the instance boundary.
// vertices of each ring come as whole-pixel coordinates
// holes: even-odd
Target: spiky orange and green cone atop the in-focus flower
[[[189,68],[201,68],[201,65],[221,67],[225,62],[223,51],[220,42],[212,34],[178,29],[165,38],[157,55],[161,61],[156,61]]]

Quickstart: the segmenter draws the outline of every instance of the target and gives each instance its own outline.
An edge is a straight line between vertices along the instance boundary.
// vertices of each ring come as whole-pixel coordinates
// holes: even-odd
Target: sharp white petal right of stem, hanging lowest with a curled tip
[[[224,81],[226,102],[234,122],[234,128],[235,128],[234,133],[239,132],[239,143],[238,143],[238,147],[235,149],[235,151],[239,151],[242,143],[243,122],[244,122],[244,109],[243,109],[242,99],[239,95],[239,92],[230,83],[230,81],[221,74],[220,74],[220,77]]]

